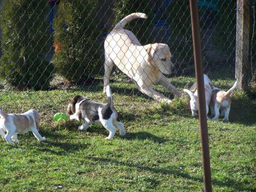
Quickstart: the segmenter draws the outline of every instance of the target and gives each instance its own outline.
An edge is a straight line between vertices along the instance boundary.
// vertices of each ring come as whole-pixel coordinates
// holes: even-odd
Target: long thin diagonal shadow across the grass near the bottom
[[[203,183],[203,179],[200,177],[193,177],[190,176],[188,173],[184,173],[181,172],[180,170],[177,169],[173,169],[173,168],[168,168],[168,169],[162,169],[162,168],[152,168],[149,166],[142,166],[142,165],[138,165],[135,163],[129,163],[129,162],[122,162],[119,160],[115,160],[115,159],[111,159],[111,158],[101,158],[101,157],[85,157],[89,160],[93,160],[93,161],[100,161],[100,162],[105,162],[105,163],[115,163],[116,165],[120,166],[128,166],[131,168],[135,168],[135,169],[140,169],[141,171],[149,171],[149,172],[154,172],[154,173],[160,173],[162,175],[175,175],[176,177],[183,177],[189,180],[194,180],[196,182],[201,182]],[[218,185],[218,186],[222,186],[222,187],[231,187],[233,189],[236,190],[240,190],[240,191],[253,191],[253,188],[247,188],[247,187],[243,187],[243,183],[239,183],[236,180],[231,180],[229,178],[225,178],[226,182],[223,182],[221,180],[216,180],[216,179],[212,179],[212,184],[213,185]],[[203,185],[203,184],[202,184]]]

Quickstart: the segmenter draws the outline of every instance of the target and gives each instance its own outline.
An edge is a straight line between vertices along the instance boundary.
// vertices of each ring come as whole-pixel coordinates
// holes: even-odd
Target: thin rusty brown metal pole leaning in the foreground
[[[198,115],[200,121],[201,149],[202,149],[202,164],[204,172],[204,191],[212,191],[211,168],[209,156],[209,141],[207,128],[207,114],[204,94],[204,73],[202,64],[202,50],[200,38],[200,26],[198,15],[198,1],[190,1],[191,26],[193,36],[193,49],[195,59],[195,75],[198,87]]]

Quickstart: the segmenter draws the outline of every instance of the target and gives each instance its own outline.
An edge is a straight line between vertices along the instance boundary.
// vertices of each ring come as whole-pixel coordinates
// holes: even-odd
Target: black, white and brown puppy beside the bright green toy
[[[125,135],[125,128],[122,122],[118,119],[118,114],[113,106],[113,98],[111,89],[108,85],[106,87],[108,96],[108,103],[93,102],[91,99],[76,95],[71,100],[67,107],[67,113],[70,119],[80,121],[84,119],[84,123],[78,127],[78,130],[86,130],[92,123],[101,123],[108,131],[109,135],[105,139],[112,139],[116,133],[116,125],[119,128],[121,136]]]

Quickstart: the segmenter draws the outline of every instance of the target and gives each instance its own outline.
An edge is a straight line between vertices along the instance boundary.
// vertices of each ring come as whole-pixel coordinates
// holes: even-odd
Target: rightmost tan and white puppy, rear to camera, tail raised
[[[212,99],[211,99],[211,112],[212,120],[218,119],[219,116],[224,116],[223,121],[228,121],[228,116],[230,112],[230,106],[231,106],[231,99],[230,95],[233,92],[233,90],[236,89],[236,84],[233,85],[227,92],[220,90],[217,87],[213,87],[212,89]],[[221,114],[220,114],[221,111]]]

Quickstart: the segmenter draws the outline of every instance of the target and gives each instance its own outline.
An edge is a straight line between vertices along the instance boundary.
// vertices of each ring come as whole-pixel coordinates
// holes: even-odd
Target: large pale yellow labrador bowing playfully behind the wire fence
[[[171,52],[166,44],[147,44],[142,46],[135,35],[125,25],[133,19],[147,16],[144,13],[132,13],[116,24],[105,39],[105,76],[104,91],[109,84],[114,64],[131,79],[142,93],[160,102],[170,99],[153,90],[152,85],[160,82],[175,95],[181,95],[163,75],[170,74],[173,64]]]

